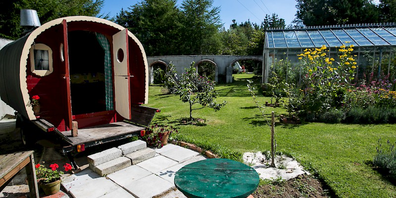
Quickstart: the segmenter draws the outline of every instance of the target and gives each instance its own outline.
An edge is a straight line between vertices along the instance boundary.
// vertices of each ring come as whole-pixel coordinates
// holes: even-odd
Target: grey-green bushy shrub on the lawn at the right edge
[[[386,146],[382,147],[381,139],[378,140],[377,155],[374,157],[373,164],[384,172],[389,173],[391,179],[396,180],[396,150],[395,144],[389,140]]]

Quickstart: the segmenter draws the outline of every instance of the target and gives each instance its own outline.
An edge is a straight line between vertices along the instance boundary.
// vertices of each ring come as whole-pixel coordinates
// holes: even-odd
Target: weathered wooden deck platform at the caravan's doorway
[[[95,141],[106,142],[106,139],[108,140],[114,137],[134,133],[138,134],[141,130],[144,129],[145,127],[135,126],[126,122],[114,122],[110,124],[98,125],[95,127],[78,129],[77,137],[72,137],[71,131],[64,131],[61,133],[71,141],[70,144],[72,146],[76,146]]]

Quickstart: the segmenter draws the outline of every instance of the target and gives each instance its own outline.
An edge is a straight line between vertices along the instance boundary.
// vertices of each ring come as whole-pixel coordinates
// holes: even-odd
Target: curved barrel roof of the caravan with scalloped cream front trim
[[[49,28],[62,24],[66,20],[69,22],[84,22],[84,23],[98,23],[100,28],[98,31],[107,31],[116,33],[125,29],[124,27],[113,23],[111,21],[89,16],[69,16],[58,18],[38,27],[28,35],[8,44],[0,50],[0,97],[1,99],[17,110],[19,113],[29,118],[36,119],[32,106],[30,104],[30,97],[28,94],[27,85],[27,61],[29,50],[35,43],[35,39]],[[84,25],[81,25],[83,27]],[[106,30],[101,30],[103,29]],[[76,26],[77,30],[79,26]],[[145,50],[140,41],[131,32],[128,32],[128,37],[131,38],[141,50],[144,59],[145,73],[146,73],[146,94],[145,103],[148,101],[148,63]],[[50,38],[49,38],[50,39]]]

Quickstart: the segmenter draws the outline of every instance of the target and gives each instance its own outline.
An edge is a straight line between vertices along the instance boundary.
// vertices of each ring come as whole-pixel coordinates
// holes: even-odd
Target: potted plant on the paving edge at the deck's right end
[[[152,145],[156,148],[162,148],[168,144],[169,135],[173,132],[177,133],[172,126],[166,125],[151,125],[146,129],[146,132],[141,134],[142,138],[147,142],[148,145]]]

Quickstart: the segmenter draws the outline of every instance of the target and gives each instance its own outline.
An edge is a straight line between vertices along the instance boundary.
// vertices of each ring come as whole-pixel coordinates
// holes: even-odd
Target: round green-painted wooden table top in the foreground
[[[222,158],[188,164],[175,174],[176,187],[189,198],[247,198],[258,182],[253,168]]]

